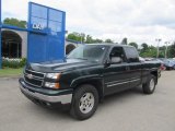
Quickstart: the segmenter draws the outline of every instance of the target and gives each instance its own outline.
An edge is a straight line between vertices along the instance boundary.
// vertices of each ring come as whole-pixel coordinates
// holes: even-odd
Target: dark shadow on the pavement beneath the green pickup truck
[[[120,104],[126,102],[127,99],[130,99],[131,97],[139,97],[142,96],[142,90],[141,87],[136,87],[132,90],[128,90],[128,91],[124,91],[121,93],[116,93],[109,96],[106,96],[104,98],[103,103],[100,103],[100,108],[98,109],[104,109],[108,106],[110,106],[110,108],[113,108],[113,104]],[[61,110],[58,108],[47,108],[47,107],[43,107],[33,103],[27,104],[27,107],[30,107],[32,110],[35,110],[35,114],[40,115],[47,119],[49,119],[49,121],[51,120],[61,120],[61,121],[74,121],[73,118],[71,118],[71,116],[69,115],[69,111],[66,110]],[[97,110],[98,111],[98,110]],[[77,120],[75,120],[77,121]]]

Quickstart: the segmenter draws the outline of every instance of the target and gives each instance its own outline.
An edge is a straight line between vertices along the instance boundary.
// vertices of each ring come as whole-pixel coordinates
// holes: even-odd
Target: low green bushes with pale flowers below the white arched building
[[[2,67],[3,68],[23,68],[26,63],[26,58],[22,59],[9,59],[9,58],[2,58]]]

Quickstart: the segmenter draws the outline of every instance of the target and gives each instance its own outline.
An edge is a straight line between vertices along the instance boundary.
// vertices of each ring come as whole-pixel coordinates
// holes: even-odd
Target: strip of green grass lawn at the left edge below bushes
[[[15,76],[15,75],[21,75],[23,72],[23,68],[21,69],[0,69],[0,76]]]

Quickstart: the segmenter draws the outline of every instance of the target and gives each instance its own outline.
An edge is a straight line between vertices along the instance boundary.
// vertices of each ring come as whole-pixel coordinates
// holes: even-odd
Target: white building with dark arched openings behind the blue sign
[[[2,28],[2,57],[26,58],[27,55],[27,32]],[[65,49],[68,55],[79,46],[79,41],[66,40]]]

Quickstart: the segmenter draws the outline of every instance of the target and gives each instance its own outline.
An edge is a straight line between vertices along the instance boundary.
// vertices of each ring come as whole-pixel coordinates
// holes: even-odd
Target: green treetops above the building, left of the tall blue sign
[[[18,19],[4,19],[3,24],[8,24],[8,25],[13,25],[13,26],[18,26],[18,27],[22,27],[22,28],[26,28],[26,21],[21,21],[21,20],[18,20]]]

